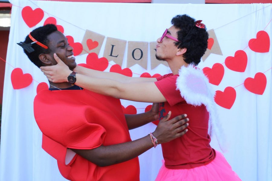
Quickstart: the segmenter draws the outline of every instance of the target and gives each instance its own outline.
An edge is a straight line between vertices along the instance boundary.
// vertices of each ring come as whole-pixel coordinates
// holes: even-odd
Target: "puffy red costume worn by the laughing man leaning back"
[[[93,149],[131,141],[119,99],[89,90],[41,90],[34,116],[43,133],[43,149],[57,159],[69,180],[139,180],[138,157],[107,167],[76,154],[65,161],[67,148]]]

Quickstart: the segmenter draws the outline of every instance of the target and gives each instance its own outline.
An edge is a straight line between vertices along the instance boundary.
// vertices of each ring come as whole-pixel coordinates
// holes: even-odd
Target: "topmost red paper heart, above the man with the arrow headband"
[[[34,27],[44,17],[44,11],[41,8],[32,10],[30,6],[26,6],[22,9],[22,17],[28,27]]]

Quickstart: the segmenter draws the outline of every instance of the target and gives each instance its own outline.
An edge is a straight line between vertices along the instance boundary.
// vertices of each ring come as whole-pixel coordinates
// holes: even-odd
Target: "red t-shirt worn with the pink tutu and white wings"
[[[163,143],[162,151],[165,167],[169,169],[189,169],[210,163],[215,158],[215,150],[209,145],[208,135],[209,112],[206,106],[187,104],[176,90],[176,79],[179,75],[167,74],[157,77],[156,86],[167,102],[160,103],[159,116],[162,119],[169,111],[170,119],[180,114],[189,118],[188,132],[168,143]]]

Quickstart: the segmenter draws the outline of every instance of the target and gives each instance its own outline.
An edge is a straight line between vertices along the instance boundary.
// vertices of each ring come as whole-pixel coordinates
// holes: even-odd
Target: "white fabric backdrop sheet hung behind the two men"
[[[42,72],[27,58],[23,49],[16,43],[36,27],[42,26],[50,16],[64,28],[65,35],[73,36],[75,42],[81,42],[85,30],[91,30],[105,36],[99,57],[107,37],[127,41],[156,41],[164,30],[171,26],[170,21],[176,14],[189,14],[196,20],[203,20],[208,30],[214,29],[221,55],[211,54],[200,68],[212,67],[222,63],[225,74],[215,90],[223,91],[228,86],[238,86],[248,77],[263,72],[267,85],[263,95],[246,90],[244,85],[235,87],[236,100],[231,109],[218,107],[220,122],[227,133],[228,152],[224,153],[233,170],[242,180],[272,180],[272,98],[271,98],[271,47],[266,53],[252,51],[248,41],[256,38],[260,30],[270,36],[271,45],[271,4],[134,4],[134,3],[86,3],[86,2],[50,2],[11,0],[11,29],[9,35],[7,63],[3,94],[0,180],[65,180],[59,173],[57,161],[41,148],[42,134],[33,116],[33,100],[40,82],[47,82]],[[41,8],[42,21],[29,28],[22,19],[21,11],[25,6]],[[47,14],[48,13],[48,14]],[[127,45],[128,46],[128,45]],[[228,56],[234,56],[237,50],[247,53],[248,65],[244,72],[228,69],[224,62]],[[126,67],[126,53],[122,68]],[[76,56],[77,63],[86,63],[86,56]],[[115,64],[109,60],[111,65]],[[130,67],[134,77],[144,72],[151,75],[169,73],[170,69],[159,65],[151,70],[150,57],[147,70],[134,65]],[[110,65],[105,71],[109,71]],[[11,84],[11,72],[21,68],[32,75],[33,81],[28,87],[14,90]],[[268,70],[268,71],[267,71]],[[142,113],[149,103],[137,103],[122,100],[123,106],[133,105],[137,113]],[[41,108],[42,109],[42,108]],[[132,140],[154,131],[153,123],[131,130]],[[216,138],[212,138],[212,147],[218,148]],[[160,146],[152,148],[139,156],[141,181],[154,180],[161,166]]]

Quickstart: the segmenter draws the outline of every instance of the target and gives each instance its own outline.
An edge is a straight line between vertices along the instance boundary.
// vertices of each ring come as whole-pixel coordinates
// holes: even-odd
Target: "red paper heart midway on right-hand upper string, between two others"
[[[238,50],[235,52],[234,57],[228,56],[225,59],[225,65],[230,70],[244,72],[247,68],[248,56],[243,50]]]

